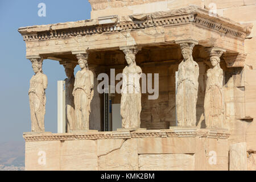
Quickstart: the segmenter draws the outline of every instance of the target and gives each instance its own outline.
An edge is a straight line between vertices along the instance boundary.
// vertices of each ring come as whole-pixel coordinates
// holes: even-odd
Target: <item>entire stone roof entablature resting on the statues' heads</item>
[[[197,40],[201,46],[223,48],[229,54],[244,52],[243,43],[251,27],[251,24],[242,25],[212,15],[198,6],[188,6],[148,14],[110,15],[77,22],[20,27],[18,31],[26,42],[27,56],[176,44],[180,40]]]

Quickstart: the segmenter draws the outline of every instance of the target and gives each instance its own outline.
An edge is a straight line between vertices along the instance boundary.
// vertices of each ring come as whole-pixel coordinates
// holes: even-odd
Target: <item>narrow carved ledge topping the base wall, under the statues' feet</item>
[[[164,130],[137,130],[137,131],[91,131],[85,133],[23,133],[26,142],[47,140],[97,140],[97,139],[129,139],[149,137],[207,137],[229,138],[228,130],[174,128]]]

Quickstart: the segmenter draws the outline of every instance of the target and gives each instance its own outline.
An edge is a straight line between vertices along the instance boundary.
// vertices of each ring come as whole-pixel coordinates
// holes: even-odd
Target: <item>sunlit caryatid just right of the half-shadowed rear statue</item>
[[[88,54],[76,55],[80,71],[76,73],[73,96],[75,101],[75,125],[76,131],[89,130],[90,102],[93,98],[93,72],[88,68]]]

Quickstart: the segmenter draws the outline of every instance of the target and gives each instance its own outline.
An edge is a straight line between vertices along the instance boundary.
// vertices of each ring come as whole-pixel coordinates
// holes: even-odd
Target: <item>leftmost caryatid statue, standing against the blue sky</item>
[[[46,114],[46,88],[47,76],[42,72],[42,58],[30,59],[35,75],[30,79],[30,98],[31,131],[44,132],[44,114]]]

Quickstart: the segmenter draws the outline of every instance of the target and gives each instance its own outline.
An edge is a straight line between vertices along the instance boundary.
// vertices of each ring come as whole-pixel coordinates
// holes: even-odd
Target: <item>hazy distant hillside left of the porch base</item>
[[[22,170],[25,166],[25,142],[0,143],[0,170]]]

